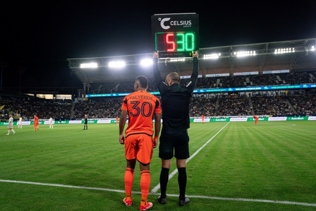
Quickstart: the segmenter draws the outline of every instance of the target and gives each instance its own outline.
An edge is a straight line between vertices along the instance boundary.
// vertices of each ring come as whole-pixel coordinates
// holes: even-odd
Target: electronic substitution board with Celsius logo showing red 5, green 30
[[[199,49],[198,14],[152,15],[152,38],[159,58],[192,58]]]

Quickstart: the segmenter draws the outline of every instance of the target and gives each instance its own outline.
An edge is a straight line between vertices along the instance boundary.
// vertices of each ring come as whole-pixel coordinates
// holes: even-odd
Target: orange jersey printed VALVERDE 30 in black
[[[159,99],[147,91],[135,91],[123,99],[121,110],[128,112],[125,136],[137,133],[153,135],[154,113],[161,113]]]

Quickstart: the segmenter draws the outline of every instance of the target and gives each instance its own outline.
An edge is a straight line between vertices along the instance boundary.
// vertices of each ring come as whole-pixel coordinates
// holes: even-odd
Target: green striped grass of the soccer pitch
[[[190,155],[228,123],[191,123]],[[191,202],[178,206],[178,197],[157,202],[153,211],[316,211],[316,121],[231,122],[187,164]],[[0,180],[124,190],[126,161],[116,124],[0,127]],[[172,161],[170,173],[176,169]],[[151,163],[151,188],[159,183],[158,149]],[[167,194],[178,195],[178,174]],[[133,191],[140,192],[135,169]],[[219,197],[217,199],[202,198]],[[139,210],[140,194],[125,207],[123,192],[54,187],[0,181],[1,211],[120,211]],[[231,198],[231,200],[223,199]],[[234,200],[232,200],[234,199]],[[280,204],[242,199],[308,203]],[[314,204],[314,206],[311,206]]]

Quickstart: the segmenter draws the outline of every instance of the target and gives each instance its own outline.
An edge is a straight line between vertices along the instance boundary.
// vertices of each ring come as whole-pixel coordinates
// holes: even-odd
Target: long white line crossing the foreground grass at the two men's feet
[[[93,188],[93,187],[83,187],[83,186],[73,186],[73,185],[60,185],[60,184],[50,184],[50,183],[39,183],[39,182],[25,182],[25,181],[16,181],[16,180],[2,180],[0,182],[11,182],[11,183],[23,183],[23,184],[32,184],[32,185],[45,185],[45,186],[55,186],[55,187],[65,187],[65,188],[79,188],[79,189],[90,189],[90,190],[102,190],[110,192],[125,193],[125,190],[116,190],[108,188]],[[134,194],[142,194],[138,191],[132,191]],[[150,193],[150,195],[160,195],[158,193]],[[168,197],[179,197],[176,194],[168,194]],[[264,199],[242,199],[242,198],[223,198],[223,197],[211,197],[211,196],[189,196],[188,198],[197,198],[197,199],[213,199],[213,200],[225,200],[225,201],[242,201],[242,202],[264,202],[264,203],[275,203],[275,204],[286,204],[286,205],[301,205],[316,207],[316,204],[304,203],[304,202],[289,202],[289,201],[274,201],[274,200],[264,200]]]

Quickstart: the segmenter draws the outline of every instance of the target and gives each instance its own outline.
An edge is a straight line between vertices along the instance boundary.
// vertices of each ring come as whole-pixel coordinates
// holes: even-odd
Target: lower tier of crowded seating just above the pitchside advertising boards
[[[256,115],[316,115],[316,95],[298,94],[285,95],[280,92],[280,96],[252,96],[253,111]],[[158,96],[159,98],[159,96]],[[218,107],[216,111],[216,102]],[[77,119],[81,120],[84,114],[88,114],[89,119],[109,119],[119,117],[122,99],[105,99],[101,102],[78,102],[70,104],[45,100],[33,100],[28,98],[10,98],[0,99],[0,105],[4,108],[0,110],[0,121],[8,120],[8,115],[21,115],[24,119],[33,119],[37,114],[39,119]],[[292,107],[291,107],[292,106]],[[295,109],[294,110],[292,110]],[[71,116],[71,113],[74,116]],[[296,113],[297,111],[297,113]],[[162,111],[163,113],[163,111]],[[218,94],[215,97],[192,97],[190,104],[190,117],[211,116],[250,116],[252,107],[250,107],[249,97],[234,94]],[[163,117],[162,117],[163,118]]]

